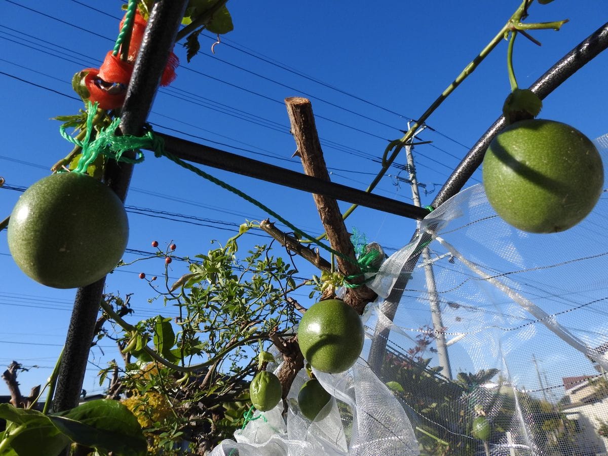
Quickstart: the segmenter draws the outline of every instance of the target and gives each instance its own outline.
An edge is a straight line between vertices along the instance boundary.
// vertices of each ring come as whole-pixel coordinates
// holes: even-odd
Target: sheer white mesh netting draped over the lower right
[[[596,145],[608,163],[608,136]],[[285,417],[280,404],[212,454],[608,455],[606,227],[608,196],[572,229],[534,235],[482,185],[463,190],[371,282],[357,364],[316,373],[330,415],[299,412],[302,371]]]

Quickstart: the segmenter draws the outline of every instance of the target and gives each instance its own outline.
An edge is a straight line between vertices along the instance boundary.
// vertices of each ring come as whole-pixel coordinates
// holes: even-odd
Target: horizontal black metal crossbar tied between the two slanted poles
[[[270,165],[185,139],[162,133],[157,133],[157,136],[164,139],[165,150],[185,161],[262,179],[285,187],[297,188],[317,195],[332,196],[340,201],[347,201],[404,217],[422,219],[429,213],[429,210],[424,209],[424,207],[364,192],[347,185],[323,181],[297,171]]]

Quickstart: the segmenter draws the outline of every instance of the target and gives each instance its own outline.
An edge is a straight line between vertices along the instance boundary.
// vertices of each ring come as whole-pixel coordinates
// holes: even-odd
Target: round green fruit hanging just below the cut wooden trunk
[[[359,314],[339,299],[313,304],[298,326],[304,358],[317,370],[328,373],[344,372],[357,361],[364,336]]]

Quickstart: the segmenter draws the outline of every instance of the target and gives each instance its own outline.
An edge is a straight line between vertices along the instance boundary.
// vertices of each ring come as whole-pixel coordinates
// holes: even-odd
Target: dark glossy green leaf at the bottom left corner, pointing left
[[[49,415],[49,418],[76,443],[98,451],[112,451],[121,456],[147,453],[147,443],[137,418],[118,401],[89,401],[75,409]]]

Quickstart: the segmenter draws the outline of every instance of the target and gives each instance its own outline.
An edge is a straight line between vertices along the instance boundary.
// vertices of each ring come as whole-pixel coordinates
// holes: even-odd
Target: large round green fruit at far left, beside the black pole
[[[122,201],[80,173],[51,174],[28,188],[10,215],[7,235],[19,268],[55,288],[89,285],[108,274],[128,236]]]

